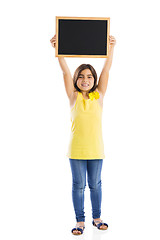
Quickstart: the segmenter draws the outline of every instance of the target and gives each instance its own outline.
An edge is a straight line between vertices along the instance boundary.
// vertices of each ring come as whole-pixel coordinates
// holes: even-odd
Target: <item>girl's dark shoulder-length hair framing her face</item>
[[[73,75],[73,84],[74,84],[74,87],[76,89],[76,91],[79,91],[79,92],[82,92],[81,89],[78,88],[77,86],[77,79],[80,75],[80,73],[84,70],[84,69],[89,69],[94,77],[94,85],[93,87],[89,90],[89,93],[90,92],[93,92],[96,88],[97,88],[97,73],[94,69],[94,67],[92,67],[92,65],[90,64],[81,64],[74,72],[74,75]]]

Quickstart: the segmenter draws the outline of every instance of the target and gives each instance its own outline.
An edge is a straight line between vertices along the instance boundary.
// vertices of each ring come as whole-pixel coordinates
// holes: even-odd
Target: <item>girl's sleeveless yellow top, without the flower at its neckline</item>
[[[71,135],[67,157],[103,159],[102,107],[96,98],[84,99],[81,92],[71,109]]]

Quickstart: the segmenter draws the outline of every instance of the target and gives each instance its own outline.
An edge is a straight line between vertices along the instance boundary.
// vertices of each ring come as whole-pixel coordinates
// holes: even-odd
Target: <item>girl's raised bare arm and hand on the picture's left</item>
[[[56,46],[56,35],[50,40],[52,46],[55,48]],[[67,63],[64,59],[64,57],[58,57],[59,65],[63,72],[63,79],[64,79],[64,85],[66,89],[67,96],[69,99],[71,98],[72,94],[74,93],[74,85],[73,85],[73,79],[71,72],[67,66]]]

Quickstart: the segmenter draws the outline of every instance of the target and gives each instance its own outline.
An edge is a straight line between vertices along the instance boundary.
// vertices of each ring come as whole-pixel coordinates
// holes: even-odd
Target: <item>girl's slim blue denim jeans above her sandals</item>
[[[77,222],[85,222],[84,216],[84,190],[86,186],[86,173],[90,198],[92,203],[92,217],[101,215],[101,169],[103,159],[81,160],[70,159],[72,171],[72,200]]]

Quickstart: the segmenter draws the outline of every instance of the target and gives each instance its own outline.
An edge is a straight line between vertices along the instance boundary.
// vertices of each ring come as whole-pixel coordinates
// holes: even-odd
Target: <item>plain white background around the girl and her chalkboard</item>
[[[117,44],[104,98],[102,232],[88,186],[81,239],[160,239],[158,1],[3,1],[0,5],[0,239],[71,239],[70,107],[50,39],[56,16],[110,17]],[[85,38],[85,36],[84,36]],[[74,70],[104,59],[66,58]]]

